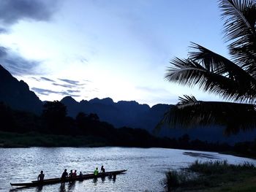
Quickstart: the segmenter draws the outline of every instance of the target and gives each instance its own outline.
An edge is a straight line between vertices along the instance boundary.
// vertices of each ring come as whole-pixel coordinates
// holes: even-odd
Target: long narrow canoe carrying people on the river
[[[113,171],[113,172],[105,172],[105,173],[99,173],[97,176],[94,174],[83,174],[82,177],[77,176],[75,178],[69,179],[67,178],[64,182],[72,182],[75,180],[88,180],[88,179],[93,179],[96,177],[108,177],[108,176],[115,176],[116,174],[122,174],[127,172],[127,169],[122,169],[118,171]],[[50,184],[55,184],[55,183],[62,183],[63,181],[61,178],[51,178],[43,181],[31,181],[29,183],[10,183],[12,186],[25,186],[25,187],[34,187],[34,186],[39,186],[39,185],[50,185]]]

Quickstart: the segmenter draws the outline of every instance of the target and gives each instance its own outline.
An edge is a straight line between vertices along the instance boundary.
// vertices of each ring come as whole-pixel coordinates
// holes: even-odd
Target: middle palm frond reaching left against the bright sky
[[[212,59],[214,60],[215,58],[213,57]],[[182,85],[188,85],[189,87],[198,85],[203,91],[219,94],[224,99],[255,101],[256,83],[252,82],[254,79],[251,81],[247,80],[247,78],[244,78],[246,72],[240,68],[237,71],[236,68],[238,66],[232,64],[231,61],[227,61],[225,61],[225,58],[222,58],[223,64],[221,68],[217,66],[217,64],[216,66],[209,64],[206,66],[206,63],[198,63],[195,59],[174,58],[170,62],[171,67],[167,68],[165,79],[170,82],[178,82]],[[236,73],[236,76],[238,77],[241,76],[241,80],[234,80],[234,77],[232,77],[233,73]],[[229,75],[224,76],[222,74]]]

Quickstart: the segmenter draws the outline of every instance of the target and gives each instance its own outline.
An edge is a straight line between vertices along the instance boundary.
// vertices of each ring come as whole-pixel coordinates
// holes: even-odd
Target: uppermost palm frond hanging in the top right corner
[[[256,2],[254,0],[220,0],[224,34],[234,61],[256,76]]]

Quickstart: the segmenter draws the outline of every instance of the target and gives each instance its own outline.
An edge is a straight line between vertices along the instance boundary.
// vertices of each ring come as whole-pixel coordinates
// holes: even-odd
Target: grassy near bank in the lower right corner
[[[167,191],[256,191],[256,167],[227,161],[195,161],[187,169],[166,173]]]

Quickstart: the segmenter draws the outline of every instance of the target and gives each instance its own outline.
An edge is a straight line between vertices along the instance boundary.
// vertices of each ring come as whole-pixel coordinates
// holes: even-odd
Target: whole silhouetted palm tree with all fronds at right
[[[227,133],[256,125],[256,1],[220,0],[230,58],[192,43],[187,59],[173,58],[166,80],[219,94],[225,101],[197,101],[194,96],[165,113],[159,123],[195,126],[217,123]],[[229,102],[228,102],[229,101]]]

